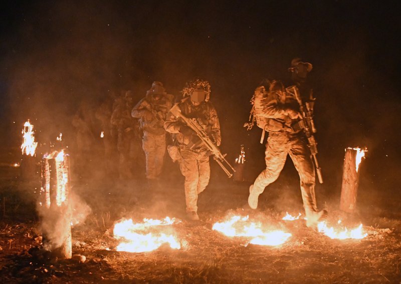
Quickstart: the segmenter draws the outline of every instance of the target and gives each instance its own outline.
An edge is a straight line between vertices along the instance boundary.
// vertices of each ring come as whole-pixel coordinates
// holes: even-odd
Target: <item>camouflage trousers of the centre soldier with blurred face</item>
[[[197,195],[204,191],[209,184],[210,163],[206,151],[194,152],[181,149],[180,169],[185,176],[186,211],[197,211]]]

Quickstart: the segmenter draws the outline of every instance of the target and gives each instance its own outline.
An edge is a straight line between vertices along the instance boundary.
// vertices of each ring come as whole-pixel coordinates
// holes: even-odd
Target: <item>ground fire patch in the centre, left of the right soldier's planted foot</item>
[[[235,215],[225,222],[216,222],[212,229],[222,232],[227,236],[249,237],[249,243],[260,245],[279,245],[283,244],[291,236],[281,230],[264,231],[260,222],[250,222],[249,216]]]

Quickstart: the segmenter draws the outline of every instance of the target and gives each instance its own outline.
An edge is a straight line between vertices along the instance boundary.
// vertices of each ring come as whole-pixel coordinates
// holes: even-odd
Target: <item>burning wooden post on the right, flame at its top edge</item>
[[[366,149],[346,148],[342,174],[340,209],[352,213],[355,210],[359,185],[359,165]]]

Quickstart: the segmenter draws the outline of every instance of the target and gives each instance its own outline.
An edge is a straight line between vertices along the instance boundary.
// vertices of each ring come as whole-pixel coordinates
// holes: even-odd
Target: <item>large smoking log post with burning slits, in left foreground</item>
[[[58,258],[71,258],[70,156],[54,151],[42,159],[43,246]]]

